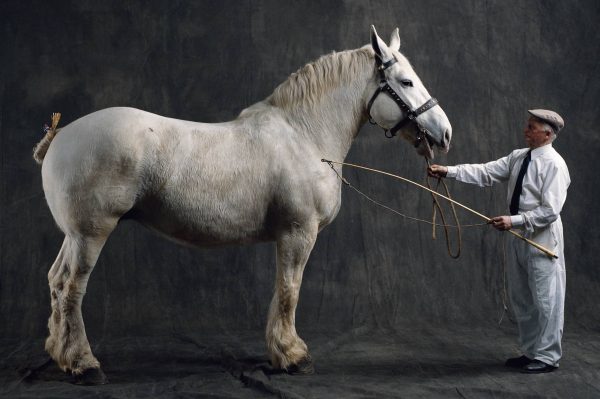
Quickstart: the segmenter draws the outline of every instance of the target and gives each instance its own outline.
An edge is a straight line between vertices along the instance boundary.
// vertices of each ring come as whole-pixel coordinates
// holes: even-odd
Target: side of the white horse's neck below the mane
[[[288,121],[328,159],[343,160],[360,127],[367,121],[364,91],[367,81],[336,87],[313,106],[288,110]]]

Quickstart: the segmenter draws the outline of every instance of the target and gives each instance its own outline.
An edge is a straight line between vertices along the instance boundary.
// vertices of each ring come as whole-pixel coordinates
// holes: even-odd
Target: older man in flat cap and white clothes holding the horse
[[[485,164],[431,165],[428,172],[482,187],[508,181],[511,214],[494,217],[490,224],[498,230],[515,229],[558,256],[550,258],[515,238],[516,262],[510,262],[507,273],[523,355],[508,359],[506,366],[524,373],[547,373],[558,367],[562,355],[565,260],[560,211],[571,180],[565,161],[552,147],[563,119],[553,111],[528,112],[525,141],[529,148]]]

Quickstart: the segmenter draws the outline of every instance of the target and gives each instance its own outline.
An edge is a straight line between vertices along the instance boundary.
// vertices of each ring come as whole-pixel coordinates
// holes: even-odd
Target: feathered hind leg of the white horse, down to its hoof
[[[48,273],[52,314],[48,320],[50,335],[46,339],[46,350],[60,368],[73,373],[79,383],[107,382],[87,340],[81,303],[90,273],[109,233],[68,234]]]

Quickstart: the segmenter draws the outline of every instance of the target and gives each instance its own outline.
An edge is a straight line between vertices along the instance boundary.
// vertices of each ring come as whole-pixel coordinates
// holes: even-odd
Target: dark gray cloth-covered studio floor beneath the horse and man
[[[503,367],[516,354],[513,327],[356,329],[304,337],[316,372],[274,373],[260,331],[103,340],[94,351],[110,384],[76,386],[42,340],[3,342],[0,396],[22,398],[598,398],[600,338],[573,327],[558,371]]]

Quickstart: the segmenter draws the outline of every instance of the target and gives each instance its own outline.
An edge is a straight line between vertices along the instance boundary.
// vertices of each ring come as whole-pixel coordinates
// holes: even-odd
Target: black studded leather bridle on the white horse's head
[[[426,138],[427,131],[417,122],[417,116],[435,107],[438,101],[432,97],[419,108],[415,110],[410,109],[410,106],[400,98],[400,96],[398,95],[398,93],[396,93],[394,89],[392,89],[392,86],[389,85],[388,80],[385,77],[385,70],[394,65],[396,62],[396,58],[392,58],[387,62],[382,62],[381,58],[375,55],[375,63],[377,66],[377,72],[379,73],[379,88],[375,91],[375,93],[373,93],[371,99],[369,100],[369,104],[367,105],[367,114],[369,115],[369,122],[371,122],[374,125],[378,125],[378,123],[375,122],[375,120],[373,120],[373,117],[371,116],[371,107],[373,106],[373,102],[375,102],[375,99],[379,94],[384,92],[387,93],[392,98],[392,100],[394,100],[394,102],[398,104],[405,116],[404,118],[400,119],[398,123],[396,123],[391,129],[385,129],[384,127],[380,126],[385,131],[385,136],[388,138],[394,137],[398,130],[402,129],[407,123],[414,121],[417,124],[417,127],[419,128],[419,133],[417,134],[415,141],[415,147],[418,147],[419,144],[421,144],[421,141],[423,141],[423,139]]]

